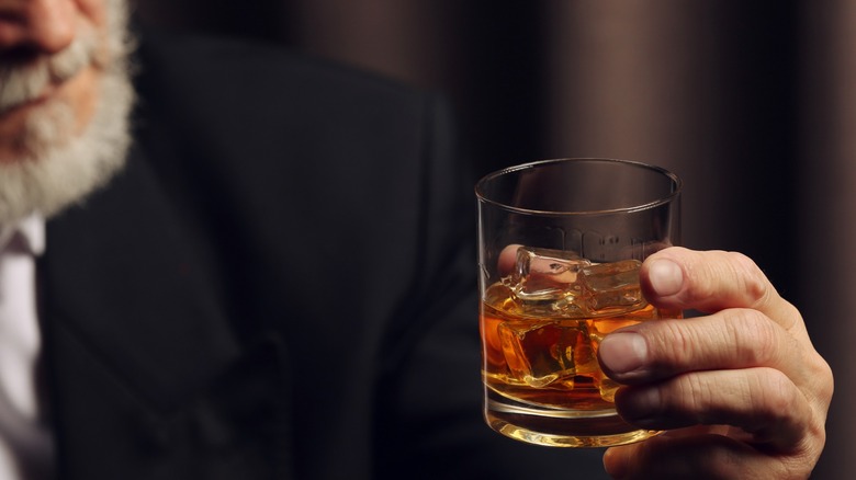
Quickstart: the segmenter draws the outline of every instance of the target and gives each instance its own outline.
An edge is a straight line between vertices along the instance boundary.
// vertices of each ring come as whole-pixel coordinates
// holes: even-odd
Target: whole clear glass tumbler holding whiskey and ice
[[[645,258],[680,242],[682,182],[649,164],[556,159],[475,186],[484,416],[523,442],[601,447],[657,432],[616,412],[597,348],[626,325],[680,311],[642,296]]]

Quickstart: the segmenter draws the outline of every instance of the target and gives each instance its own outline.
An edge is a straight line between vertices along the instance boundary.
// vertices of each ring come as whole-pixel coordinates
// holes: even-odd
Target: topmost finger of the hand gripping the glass
[[[645,298],[661,308],[707,313],[750,308],[787,330],[804,330],[797,308],[781,298],[764,272],[742,253],[672,247],[645,260],[640,283]]]

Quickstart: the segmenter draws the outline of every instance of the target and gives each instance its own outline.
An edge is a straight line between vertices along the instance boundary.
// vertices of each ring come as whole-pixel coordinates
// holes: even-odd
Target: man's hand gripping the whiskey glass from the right
[[[600,344],[624,384],[619,413],[668,430],[604,456],[617,479],[804,479],[821,455],[832,372],[800,312],[739,253],[671,248],[640,272],[645,297],[707,317],[643,322]]]

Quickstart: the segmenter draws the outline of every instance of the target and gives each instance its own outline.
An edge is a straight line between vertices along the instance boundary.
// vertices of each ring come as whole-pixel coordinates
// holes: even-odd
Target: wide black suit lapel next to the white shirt
[[[240,415],[228,393],[241,368],[258,370],[248,382],[282,385],[279,370],[258,368],[275,370],[275,341],[241,352],[180,210],[135,152],[108,188],[48,222],[41,317],[67,478],[185,477],[192,461],[179,457],[209,442],[204,425]]]

